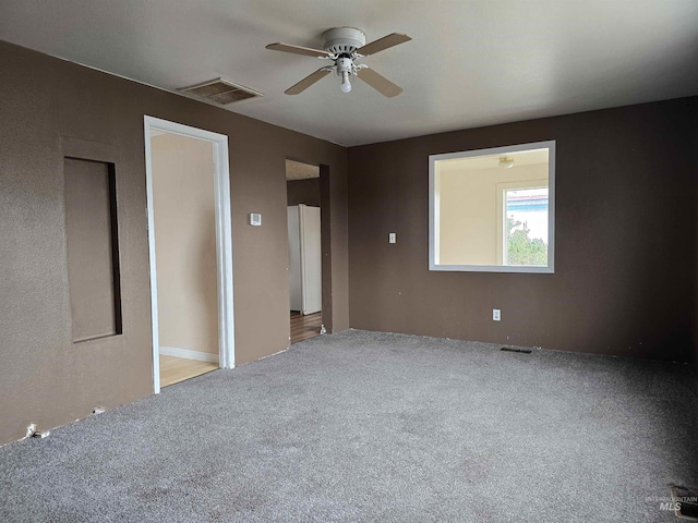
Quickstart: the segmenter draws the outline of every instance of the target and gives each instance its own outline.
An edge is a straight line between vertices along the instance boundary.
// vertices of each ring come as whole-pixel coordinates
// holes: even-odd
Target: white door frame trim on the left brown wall
[[[144,117],[145,180],[151,260],[151,316],[153,323],[153,391],[160,391],[160,346],[157,319],[157,277],[155,264],[155,216],[153,209],[152,131],[179,134],[210,142],[214,147],[214,190],[216,199],[216,263],[218,276],[218,362],[220,368],[234,367],[234,317],[232,307],[232,227],[230,220],[230,172],[228,136],[159,118]]]

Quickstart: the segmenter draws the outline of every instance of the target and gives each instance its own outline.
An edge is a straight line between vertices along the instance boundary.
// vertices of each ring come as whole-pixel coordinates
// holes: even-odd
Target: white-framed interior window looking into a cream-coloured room
[[[430,270],[554,272],[555,142],[429,157]]]

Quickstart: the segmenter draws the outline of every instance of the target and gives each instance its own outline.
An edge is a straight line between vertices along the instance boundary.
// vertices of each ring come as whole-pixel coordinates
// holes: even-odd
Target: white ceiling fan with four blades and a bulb
[[[304,54],[306,57],[322,58],[335,62],[333,65],[320,68],[313,74],[304,77],[284,93],[287,95],[298,95],[333,71],[337,76],[341,76],[341,90],[344,93],[351,92],[351,82],[349,81],[351,76],[363,80],[371,87],[387,97],[397,96],[402,93],[401,87],[376,73],[365,63],[354,63],[354,61],[409,41],[411,40],[409,36],[393,33],[371,44],[366,44],[366,35],[363,31],[354,27],[335,27],[323,33],[322,38],[323,50],[292,46],[290,44],[269,44],[266,46],[267,49],[274,51],[292,52],[293,54]]]

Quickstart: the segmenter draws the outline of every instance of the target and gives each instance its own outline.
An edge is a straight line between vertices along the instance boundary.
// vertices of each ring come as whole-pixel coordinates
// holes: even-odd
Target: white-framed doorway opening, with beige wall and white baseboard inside
[[[228,137],[145,117],[153,389],[234,366]]]

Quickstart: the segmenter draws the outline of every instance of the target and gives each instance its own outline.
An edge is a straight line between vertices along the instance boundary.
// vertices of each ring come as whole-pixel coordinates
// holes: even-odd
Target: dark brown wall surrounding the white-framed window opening
[[[696,106],[681,99],[350,148],[351,327],[689,358]],[[546,139],[557,142],[555,273],[430,272],[429,155]]]

